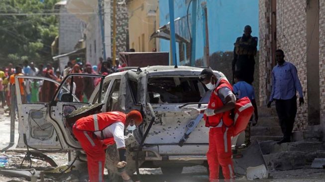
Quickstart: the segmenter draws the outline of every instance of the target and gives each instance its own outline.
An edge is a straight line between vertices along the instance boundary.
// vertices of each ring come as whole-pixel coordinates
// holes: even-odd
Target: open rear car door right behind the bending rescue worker
[[[102,75],[70,74],[63,80],[49,103],[47,120],[56,128],[64,150],[81,149],[79,142],[72,133],[72,126],[75,121],[67,120],[66,116],[78,108],[87,108],[100,103],[100,99],[92,103],[91,96],[88,98],[86,93],[89,92],[93,95],[95,85],[91,83],[98,83],[101,88],[104,78],[105,76]],[[98,81],[98,79],[100,80]],[[82,84],[83,86],[81,87]],[[68,91],[65,89],[66,86]],[[73,97],[74,94],[78,99]]]

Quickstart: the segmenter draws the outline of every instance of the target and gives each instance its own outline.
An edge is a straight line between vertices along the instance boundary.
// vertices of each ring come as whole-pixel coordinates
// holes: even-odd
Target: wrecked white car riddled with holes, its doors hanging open
[[[16,83],[19,83],[19,79],[28,79],[32,87],[33,84],[39,87],[37,102],[27,103],[21,97],[19,84],[16,84],[19,116],[17,148],[28,146],[35,149],[77,151],[75,154],[86,160],[71,131],[76,119],[98,112],[128,112],[137,109],[143,115],[143,124],[133,133],[125,131],[128,173],[138,172],[138,168],[160,167],[164,174],[175,174],[181,173],[186,166],[208,166],[206,152],[209,146],[209,128],[205,127],[202,114],[190,116],[184,112],[188,107],[207,106],[211,91],[199,81],[203,69],[186,66],[124,69],[123,72],[105,78],[99,75],[71,74],[61,84],[49,78],[17,76]],[[215,74],[224,77],[221,72]],[[79,100],[74,94],[74,87],[70,86],[73,82],[85,79],[97,80],[99,84],[89,98],[84,95],[87,99]],[[41,99],[45,97],[42,94],[49,92],[46,88],[57,88],[48,100]],[[84,85],[84,88],[92,89],[89,85]],[[254,145],[256,144],[252,144]],[[239,162],[234,162],[236,173],[246,175],[248,167],[264,165],[266,168],[258,143],[257,147],[252,148],[255,153],[245,151],[247,156],[256,155],[261,159],[252,164],[242,155]],[[112,165],[115,160],[116,147],[109,146],[106,167],[111,176],[115,174],[116,169]]]

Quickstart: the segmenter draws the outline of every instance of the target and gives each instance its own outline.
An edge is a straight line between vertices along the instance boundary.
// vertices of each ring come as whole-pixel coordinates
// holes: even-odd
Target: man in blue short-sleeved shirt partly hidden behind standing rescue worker
[[[243,98],[247,96],[250,101],[252,102],[252,105],[254,107],[254,115],[255,115],[255,122],[253,123],[253,126],[257,124],[258,120],[258,112],[257,112],[257,105],[255,101],[255,93],[254,93],[254,88],[253,86],[249,85],[247,82],[243,81],[243,76],[242,72],[236,71],[234,73],[234,77],[237,81],[235,85],[233,85],[233,92],[238,98]],[[248,123],[247,128],[245,130],[245,144],[248,146],[250,144],[250,124],[251,122]]]

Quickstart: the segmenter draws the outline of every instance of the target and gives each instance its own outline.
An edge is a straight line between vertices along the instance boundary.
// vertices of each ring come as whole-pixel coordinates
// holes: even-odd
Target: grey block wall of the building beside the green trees
[[[67,8],[61,6],[59,20],[59,54],[71,52],[82,38],[83,22],[73,14],[66,14]]]

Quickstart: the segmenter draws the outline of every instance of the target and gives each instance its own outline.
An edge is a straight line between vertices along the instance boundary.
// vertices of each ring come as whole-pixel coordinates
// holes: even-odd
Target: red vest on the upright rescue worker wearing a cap
[[[231,91],[233,91],[232,86],[229,84],[229,82],[226,81],[225,79],[221,79],[219,82],[219,85],[211,94],[210,101],[208,103],[208,108],[217,109],[224,105],[222,100],[218,96],[219,89],[221,89],[223,87],[227,87]],[[213,116],[207,116],[206,114],[204,114],[204,120],[206,121],[206,127],[216,127],[220,123],[221,119],[222,119],[223,124],[226,127],[230,127],[233,124],[233,119],[232,119],[230,113],[231,113],[231,111],[226,111],[223,113],[215,114]]]

